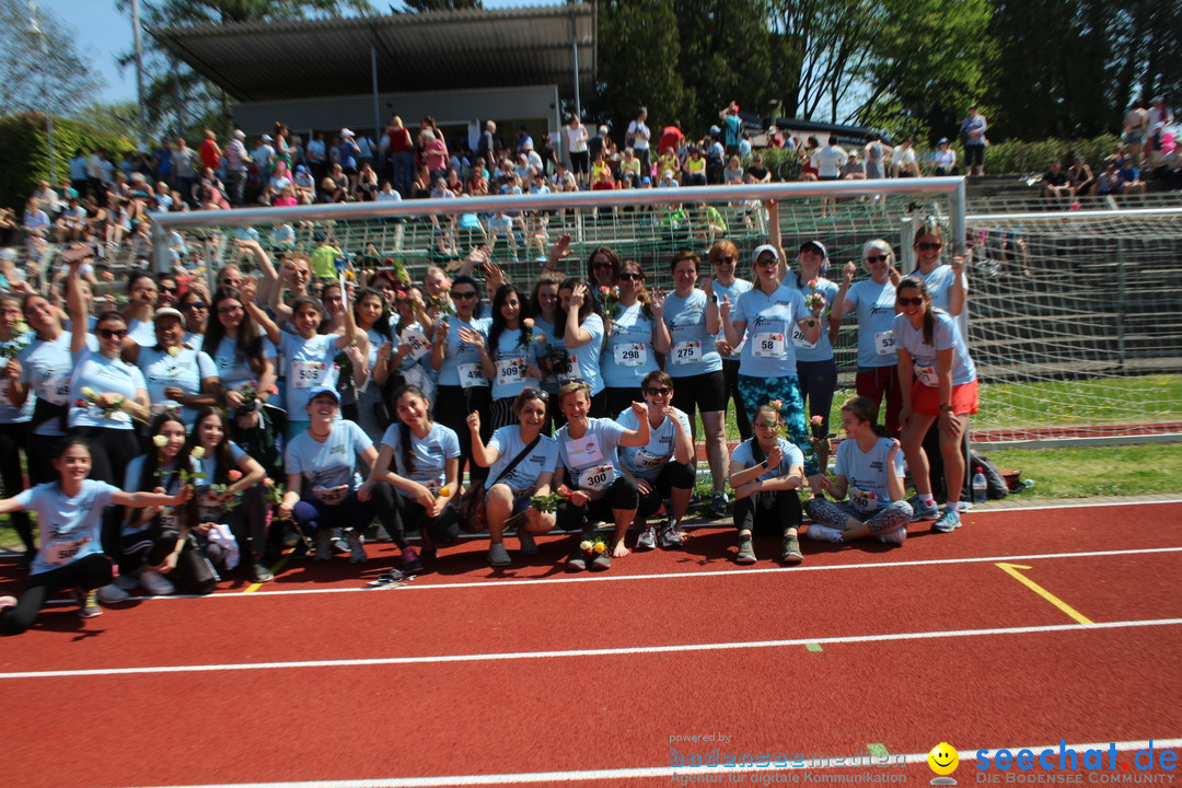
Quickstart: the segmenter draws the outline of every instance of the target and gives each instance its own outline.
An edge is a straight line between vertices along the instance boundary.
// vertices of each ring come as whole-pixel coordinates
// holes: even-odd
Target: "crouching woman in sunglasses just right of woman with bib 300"
[[[636,549],[676,548],[682,546],[681,519],[689,508],[689,496],[694,491],[694,442],[689,437],[689,417],[674,408],[673,378],[656,370],[641,382],[644,402],[649,405],[649,442],[643,447],[625,447],[619,451],[624,474],[636,478],[639,489],[639,506],[636,516],[642,522],[661,508],[663,499],[669,499],[669,516],[658,534],[651,526],[641,530]],[[638,419],[632,409],[623,411],[617,422],[628,429],[636,429]]]

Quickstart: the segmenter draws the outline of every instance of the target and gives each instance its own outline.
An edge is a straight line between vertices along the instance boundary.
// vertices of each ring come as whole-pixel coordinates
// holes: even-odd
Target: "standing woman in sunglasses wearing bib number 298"
[[[662,320],[664,297],[644,287],[641,263],[619,265],[619,306],[611,320],[608,344],[599,357],[606,385],[608,412],[618,413],[641,396],[641,380],[657,369],[657,352],[669,351],[669,331]]]

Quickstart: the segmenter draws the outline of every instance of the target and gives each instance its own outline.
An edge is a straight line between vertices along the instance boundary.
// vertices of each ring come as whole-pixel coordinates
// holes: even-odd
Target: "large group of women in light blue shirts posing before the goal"
[[[467,464],[472,482],[486,491],[492,565],[512,562],[506,532],[515,529],[521,553],[532,554],[534,538],[557,527],[584,532],[569,569],[604,569],[629,553],[625,538],[634,525],[641,526],[636,548],[681,546],[681,519],[695,482],[696,410],[715,493],[729,488],[735,496],[739,562],[755,560],[752,536],[761,528],[782,536],[782,561],[803,560],[797,490],[806,486],[813,493],[805,504],[813,538],[870,535],[902,543],[913,516],[934,515],[922,448],[934,423],[946,473],[963,475],[963,461],[957,470],[955,457],[976,409],[975,371],[962,328],[946,311],[963,311],[963,263],[940,265],[939,228],[924,227],[916,236],[916,276],[901,280],[890,246],[871,241],[863,250],[870,279],[853,284],[850,263],[838,287],[824,278],[823,243],[804,243],[792,272],[779,239],[771,240],[752,254],[749,282],[735,275],[739,252],[729,241],[707,255],[713,275],[696,253],[675,255],[669,294],[647,288],[638,262],[599,248],[585,279],[545,273],[528,294],[501,284],[487,307],[476,280],[466,275],[427,299],[394,276],[378,276],[349,308],[340,284],[330,284],[322,300],[299,295],[287,305],[278,298],[260,304],[254,282],[236,274],[220,281],[208,304],[188,299],[188,315],[155,310],[155,336],[139,341],[128,340],[119,313],[89,318],[77,275],[82,259],[71,256],[83,253],[71,250],[70,327],[39,295],[19,307],[32,340],[26,338],[5,367],[12,413],[0,412],[0,441],[8,439],[6,424],[26,416],[32,435],[71,439],[52,463],[31,457],[39,487],[5,501],[5,510],[19,516],[43,506],[37,490],[52,489],[57,497],[48,506],[72,512],[70,523],[65,514],[39,516],[43,551],[34,574],[98,555],[99,545],[116,559],[113,581],[96,585],[96,578],[108,579],[103,572],[79,580],[71,569],[45,587],[100,588],[106,601],[126,598],[137,582],[150,593],[206,593],[219,572],[238,564],[252,581],[266,581],[264,559],[278,529],[268,538],[264,480],[278,474],[278,463],[275,456],[254,455],[274,450],[277,425],[285,424],[286,489],[277,514],[294,520],[301,536],[314,536],[318,559],[331,558],[332,529],[342,528],[351,560],[365,560],[359,523],[376,514],[402,549],[403,571],[420,571],[423,558],[459,538],[462,523],[453,503]],[[928,272],[926,262],[934,263]],[[332,287],[339,305],[329,304]],[[197,307],[212,318],[194,319]],[[15,307],[0,301],[0,308]],[[827,431],[837,380],[832,339],[849,312],[859,324],[859,397],[843,405],[851,439],[838,447],[836,478],[826,478],[808,418],[819,417]],[[11,333],[5,315],[0,345]],[[290,327],[281,330],[281,323]],[[885,426],[879,426],[884,395]],[[735,399],[743,434],[729,458],[728,398]],[[152,403],[163,402],[173,408],[154,413]],[[286,410],[285,421],[272,412],[275,405]],[[343,419],[343,410],[352,418]],[[145,435],[137,435],[135,419],[149,422]],[[152,441],[147,452],[144,437]],[[95,484],[123,481],[124,489],[144,495],[103,494],[103,503],[86,513],[71,509],[82,488],[90,490],[66,483],[63,458],[71,452],[86,454]],[[914,510],[903,499],[901,455],[920,493]],[[83,464],[79,457],[71,462],[71,468]],[[115,478],[117,469],[125,469],[123,480]],[[197,494],[188,501],[194,481]],[[948,487],[950,507],[936,523],[941,530],[959,525],[949,514],[960,486]],[[559,489],[557,504],[531,506],[532,497]],[[104,525],[108,504],[144,508],[122,521],[108,515]],[[662,507],[661,526],[647,527]],[[56,519],[63,522],[48,526]],[[595,521],[615,526],[610,540],[595,536],[589,528]],[[21,533],[27,532],[26,525]],[[426,556],[407,532],[421,534]],[[91,547],[60,566],[40,558],[47,542],[83,538]],[[84,601],[89,614],[98,610]],[[34,604],[40,605],[22,599],[0,612],[0,620],[21,631]]]

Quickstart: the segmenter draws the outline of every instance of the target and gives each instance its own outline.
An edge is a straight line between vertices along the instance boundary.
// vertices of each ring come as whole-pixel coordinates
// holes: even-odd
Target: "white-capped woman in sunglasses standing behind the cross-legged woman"
[[[842,287],[834,297],[831,319],[840,323],[850,312],[858,318],[858,371],[855,385],[859,397],[876,405],[886,398],[883,423],[890,437],[898,436],[898,410],[903,395],[898,388],[898,356],[895,353],[895,285],[900,280],[895,253],[883,240],[862,247],[862,266],[869,280],[853,281],[858,267],[851,260],[842,273]]]

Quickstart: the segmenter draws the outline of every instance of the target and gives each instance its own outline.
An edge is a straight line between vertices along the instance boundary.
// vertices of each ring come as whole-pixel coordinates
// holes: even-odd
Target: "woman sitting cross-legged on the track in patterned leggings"
[[[818,495],[805,503],[813,519],[808,538],[825,542],[847,542],[877,536],[888,545],[902,545],[911,504],[903,487],[903,456],[900,443],[877,423],[878,404],[869,397],[851,397],[842,405],[845,441],[837,447],[836,478],[821,478],[821,488],[845,503],[833,503]]]

